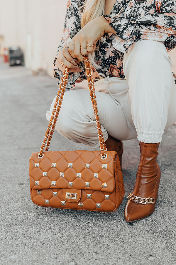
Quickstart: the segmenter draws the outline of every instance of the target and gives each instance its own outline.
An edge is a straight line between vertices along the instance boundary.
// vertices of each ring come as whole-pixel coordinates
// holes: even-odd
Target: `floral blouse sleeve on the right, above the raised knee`
[[[116,31],[107,34],[112,45],[123,53],[143,39],[164,42],[168,51],[176,46],[176,1],[117,0],[104,17]]]

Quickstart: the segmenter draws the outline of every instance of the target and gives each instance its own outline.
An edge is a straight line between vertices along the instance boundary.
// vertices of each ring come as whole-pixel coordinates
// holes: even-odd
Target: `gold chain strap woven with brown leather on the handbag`
[[[89,93],[90,93],[90,97],[91,97],[91,101],[92,101],[92,107],[94,110],[95,120],[97,123],[97,131],[98,131],[101,155],[102,155],[102,157],[106,157],[105,151],[107,151],[107,149],[106,149],[106,144],[104,141],[103,133],[101,130],[101,125],[99,122],[99,115],[98,115],[97,101],[96,101],[96,96],[95,96],[95,88],[94,88],[94,79],[92,76],[92,69],[90,67],[90,61],[89,61],[88,55],[83,55],[83,57],[84,57],[84,64],[85,64],[85,68],[86,68],[86,76],[87,76],[87,82],[88,82],[88,87],[89,87]],[[70,68],[65,67],[65,70],[63,72],[62,79],[60,82],[59,90],[57,92],[57,97],[56,97],[55,104],[53,107],[53,112],[52,112],[52,115],[50,118],[50,122],[49,122],[48,128],[45,132],[45,136],[44,136],[41,148],[40,148],[40,152],[38,153],[39,158],[43,157],[43,150],[44,150],[45,145],[46,145],[45,151],[47,151],[49,146],[50,146],[50,141],[51,141],[54,129],[55,129],[57,117],[59,115],[60,108],[62,105],[62,100],[63,100],[63,96],[65,93],[65,88],[67,85],[69,72],[70,72]]]

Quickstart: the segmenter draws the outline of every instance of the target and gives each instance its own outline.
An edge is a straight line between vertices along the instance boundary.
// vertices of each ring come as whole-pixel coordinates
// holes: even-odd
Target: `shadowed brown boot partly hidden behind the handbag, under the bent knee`
[[[110,136],[105,141],[106,148],[108,151],[116,151],[119,157],[120,165],[122,168],[122,154],[123,154],[123,142],[121,140],[117,140],[114,137]]]

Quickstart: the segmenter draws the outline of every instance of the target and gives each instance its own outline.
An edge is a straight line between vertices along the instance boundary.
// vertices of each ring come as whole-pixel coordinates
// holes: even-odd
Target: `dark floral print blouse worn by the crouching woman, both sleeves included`
[[[64,31],[57,54],[81,29],[84,3],[85,0],[67,1]],[[176,1],[117,0],[110,15],[102,15],[109,20],[116,34],[105,33],[97,42],[94,61],[101,68],[95,69],[92,66],[94,80],[99,79],[100,72],[106,77],[125,78],[123,56],[136,41],[143,39],[161,41],[168,51],[176,46]],[[55,66],[55,61],[56,58],[53,62],[54,77],[59,79],[59,85],[62,72]],[[75,87],[75,82],[86,79],[83,62],[80,62],[80,68],[82,72],[69,74],[67,89]]]

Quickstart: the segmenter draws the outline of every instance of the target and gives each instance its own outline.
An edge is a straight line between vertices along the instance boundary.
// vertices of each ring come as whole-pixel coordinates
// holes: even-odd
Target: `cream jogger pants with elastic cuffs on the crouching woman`
[[[126,77],[99,74],[95,82],[99,120],[105,140],[108,134],[119,140],[138,138],[158,143],[164,130],[176,121],[176,85],[171,59],[162,42],[135,42],[124,55]],[[82,89],[65,92],[56,130],[76,142],[99,146],[94,111],[87,81]],[[50,120],[55,99],[46,113]]]

